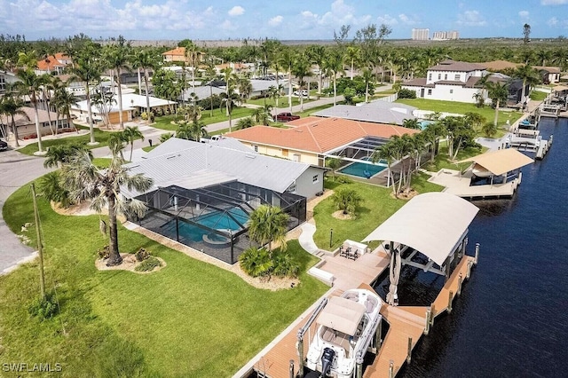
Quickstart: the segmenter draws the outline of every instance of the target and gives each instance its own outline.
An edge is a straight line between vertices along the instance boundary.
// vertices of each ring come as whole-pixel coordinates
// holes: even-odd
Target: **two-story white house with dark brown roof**
[[[439,99],[475,103],[474,94],[479,79],[489,73],[483,64],[444,60],[428,68],[426,77],[402,84],[402,88],[416,91],[416,98]]]

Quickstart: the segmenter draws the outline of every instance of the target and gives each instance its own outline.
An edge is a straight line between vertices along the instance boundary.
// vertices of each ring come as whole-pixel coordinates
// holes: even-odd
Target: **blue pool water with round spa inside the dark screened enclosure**
[[[248,214],[241,208],[233,208],[227,210],[231,215],[241,224],[245,224],[248,221]],[[226,213],[215,211],[212,213],[204,214],[200,217],[193,218],[193,222],[202,224],[214,230],[241,230],[241,225],[235,222],[232,217],[229,217]],[[212,234],[208,230],[198,227],[193,224],[185,223],[183,221],[177,222],[179,227],[179,239],[180,240],[192,240],[201,241],[203,235]],[[170,220],[167,224],[162,226],[163,232],[168,234],[171,239],[176,239],[176,219]]]

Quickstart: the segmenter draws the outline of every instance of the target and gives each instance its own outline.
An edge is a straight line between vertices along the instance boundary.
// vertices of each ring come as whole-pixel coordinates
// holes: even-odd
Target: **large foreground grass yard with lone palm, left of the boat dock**
[[[33,222],[28,185],[4,204],[12,231]],[[3,362],[62,364],[64,377],[231,376],[328,287],[307,276],[316,259],[297,241],[289,250],[303,265],[301,284],[271,292],[122,226],[122,252],[146,248],[162,257],[160,272],[99,272],[96,251],[107,241],[99,217],[65,217],[38,199],[46,287],[57,290],[60,313],[28,314],[39,295],[38,266],[0,277]],[[15,210],[17,209],[17,210]],[[35,243],[34,226],[25,232]]]

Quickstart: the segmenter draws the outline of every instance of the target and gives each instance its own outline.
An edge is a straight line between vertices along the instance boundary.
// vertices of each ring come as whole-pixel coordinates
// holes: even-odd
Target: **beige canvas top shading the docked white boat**
[[[355,335],[364,314],[365,306],[361,303],[341,296],[332,296],[319,314],[317,323],[346,335]]]

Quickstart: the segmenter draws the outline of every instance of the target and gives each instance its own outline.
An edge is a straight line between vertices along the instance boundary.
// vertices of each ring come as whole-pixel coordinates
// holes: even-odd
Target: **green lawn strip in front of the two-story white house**
[[[466,102],[438,101],[434,99],[424,98],[401,98],[398,99],[397,102],[415,106],[421,110],[431,110],[433,112],[440,113],[478,113],[483,115],[487,122],[493,122],[493,119],[495,117],[495,109],[491,108],[491,106],[476,107],[474,104],[469,104]],[[521,115],[523,114],[519,112],[503,112],[500,110],[497,124],[502,127],[506,124],[507,120],[509,120],[509,123],[512,124],[513,122],[516,122],[521,117]]]

